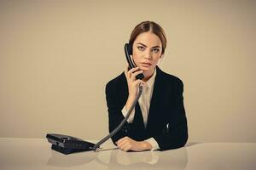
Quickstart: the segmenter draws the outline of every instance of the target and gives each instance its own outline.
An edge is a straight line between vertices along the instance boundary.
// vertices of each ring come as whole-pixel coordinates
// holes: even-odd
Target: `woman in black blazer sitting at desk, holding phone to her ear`
[[[108,82],[109,132],[124,119],[143,85],[143,94],[124,127],[113,135],[120,150],[170,150],[183,147],[188,139],[183,106],[183,82],[157,66],[166,49],[163,29],[144,21],[131,32],[132,58],[137,65]],[[136,76],[143,73],[143,80]]]

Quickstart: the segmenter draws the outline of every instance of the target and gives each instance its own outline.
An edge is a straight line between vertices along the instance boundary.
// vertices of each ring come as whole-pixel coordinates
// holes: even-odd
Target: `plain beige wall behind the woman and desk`
[[[134,26],[166,31],[189,141],[256,142],[255,1],[0,1],[0,137],[108,133],[105,85]]]

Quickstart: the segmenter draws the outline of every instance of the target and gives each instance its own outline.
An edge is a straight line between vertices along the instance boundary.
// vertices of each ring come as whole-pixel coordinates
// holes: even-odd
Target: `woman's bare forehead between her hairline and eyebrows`
[[[138,42],[141,42],[143,44],[145,44],[146,46],[148,47],[153,47],[153,46],[161,46],[162,43],[160,41],[160,38],[155,35],[154,33],[152,32],[143,32],[141,34],[139,34],[134,43],[138,43]]]

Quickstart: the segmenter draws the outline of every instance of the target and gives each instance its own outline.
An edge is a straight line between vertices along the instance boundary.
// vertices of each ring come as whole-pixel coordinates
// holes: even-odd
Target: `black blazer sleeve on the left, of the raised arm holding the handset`
[[[108,83],[105,88],[106,100],[108,106],[108,130],[109,133],[113,131],[115,127],[118,127],[120,122],[125,118],[122,114],[122,109],[125,104],[122,104],[121,100],[118,98],[118,91],[115,87],[115,84]],[[119,130],[118,133],[113,135],[111,138],[113,144],[125,136],[128,136],[130,133],[131,125],[128,122],[125,122],[125,125]]]

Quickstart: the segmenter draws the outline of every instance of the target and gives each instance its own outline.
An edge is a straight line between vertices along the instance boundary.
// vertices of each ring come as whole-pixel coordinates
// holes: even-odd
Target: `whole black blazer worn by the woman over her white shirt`
[[[122,109],[127,98],[128,86],[123,72],[106,86],[109,133],[124,119]],[[187,118],[183,106],[183,82],[156,66],[147,127],[144,127],[142,111],[137,103],[133,122],[125,122],[124,127],[113,135],[113,144],[125,136],[137,141],[153,137],[160,150],[183,147],[188,140]]]

